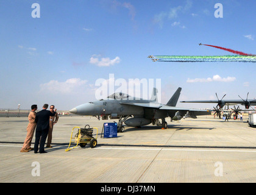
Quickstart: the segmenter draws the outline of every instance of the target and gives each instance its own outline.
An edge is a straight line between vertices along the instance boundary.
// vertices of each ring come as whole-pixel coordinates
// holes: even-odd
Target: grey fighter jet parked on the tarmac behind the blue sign
[[[166,117],[170,117],[171,121],[177,121],[188,117],[197,118],[196,115],[210,115],[208,110],[176,107],[181,90],[179,87],[166,104],[157,102],[157,89],[154,88],[151,100],[134,98],[125,93],[113,93],[106,99],[78,105],[69,112],[76,115],[101,116],[102,119],[108,119],[108,116],[110,119],[119,119],[118,131],[121,132],[124,131],[123,122],[132,127],[152,123],[166,129]],[[162,119],[162,123],[159,119]]]

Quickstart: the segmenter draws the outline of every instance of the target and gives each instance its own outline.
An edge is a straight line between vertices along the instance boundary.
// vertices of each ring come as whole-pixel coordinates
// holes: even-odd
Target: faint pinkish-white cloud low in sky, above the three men
[[[40,85],[40,92],[51,94],[69,94],[77,93],[81,87],[85,87],[87,80],[81,80],[79,78],[68,79],[65,82],[59,82],[58,80],[51,80],[48,83]]]

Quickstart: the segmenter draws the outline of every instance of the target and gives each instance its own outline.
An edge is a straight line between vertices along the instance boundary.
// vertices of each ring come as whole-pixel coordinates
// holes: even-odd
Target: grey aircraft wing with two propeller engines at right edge
[[[217,103],[217,107],[219,106],[219,109],[224,107],[225,104],[228,104],[228,105],[236,105],[236,104],[241,104],[241,105],[244,105],[244,107],[246,109],[249,109],[251,107],[251,105],[256,105],[256,99],[248,99],[248,94],[249,92],[247,93],[247,98],[246,100],[244,100],[243,98],[241,98],[239,95],[238,97],[241,98],[241,99],[236,99],[236,100],[222,100],[226,94],[224,94],[224,96],[219,100],[218,96],[217,96],[217,93],[216,93],[216,96],[217,96],[217,99],[218,100],[201,100],[201,101],[181,101],[183,103]],[[251,107],[252,108],[252,107]],[[217,108],[218,109],[218,108]],[[252,108],[254,110],[254,108]]]

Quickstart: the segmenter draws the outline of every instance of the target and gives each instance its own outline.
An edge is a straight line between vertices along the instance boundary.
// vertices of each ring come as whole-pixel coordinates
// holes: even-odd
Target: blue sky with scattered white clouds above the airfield
[[[32,17],[34,3],[40,5],[40,18]],[[223,5],[223,18],[215,18],[216,3]],[[161,79],[163,104],[178,87],[179,101],[216,99],[215,93],[239,99],[247,92],[254,99],[254,63],[152,62],[147,57],[232,55],[199,43],[256,54],[255,7],[255,1],[235,0],[2,0],[0,108],[48,103],[69,110],[96,100],[96,80],[109,74],[127,81]]]

